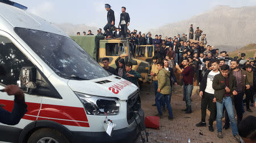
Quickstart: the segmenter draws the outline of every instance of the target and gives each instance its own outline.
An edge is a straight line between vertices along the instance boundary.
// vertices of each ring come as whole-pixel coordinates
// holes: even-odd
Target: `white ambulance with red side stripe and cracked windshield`
[[[0,2],[0,64],[7,72],[0,83],[20,85],[28,111],[16,125],[0,124],[0,141],[134,142],[144,128],[137,86],[110,75],[53,24],[15,6],[22,7]],[[0,103],[11,111],[14,97],[0,92]]]

